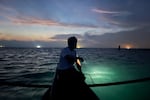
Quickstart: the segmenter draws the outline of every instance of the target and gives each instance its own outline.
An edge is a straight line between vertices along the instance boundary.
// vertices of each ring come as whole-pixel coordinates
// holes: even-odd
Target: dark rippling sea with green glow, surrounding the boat
[[[0,82],[51,85],[61,48],[0,48]],[[87,84],[150,77],[149,49],[77,49]],[[91,87],[101,100],[150,100],[150,81]],[[41,100],[47,88],[0,86],[0,100]]]

